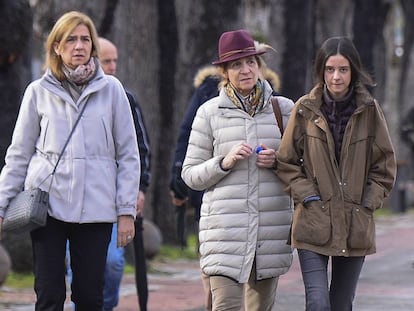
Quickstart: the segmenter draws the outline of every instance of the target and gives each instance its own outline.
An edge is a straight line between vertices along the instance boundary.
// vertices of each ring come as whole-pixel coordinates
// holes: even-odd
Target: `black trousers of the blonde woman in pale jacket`
[[[31,232],[36,311],[62,311],[66,299],[66,242],[72,266],[72,301],[77,311],[101,311],[111,223],[72,224],[48,217]]]

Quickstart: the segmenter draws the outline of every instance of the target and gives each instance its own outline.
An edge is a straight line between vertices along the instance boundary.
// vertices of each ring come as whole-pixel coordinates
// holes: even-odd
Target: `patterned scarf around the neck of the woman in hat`
[[[257,81],[256,86],[247,96],[241,95],[231,82],[224,86],[224,90],[237,108],[246,111],[252,117],[263,109],[264,94],[263,82],[261,80]]]

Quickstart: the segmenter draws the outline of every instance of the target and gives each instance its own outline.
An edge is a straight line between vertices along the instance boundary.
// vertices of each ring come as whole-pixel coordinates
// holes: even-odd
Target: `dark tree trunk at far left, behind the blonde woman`
[[[6,150],[11,142],[20,99],[31,77],[30,47],[33,20],[28,1],[7,0],[2,1],[2,5],[0,10],[1,167],[4,165]],[[31,246],[28,235],[4,233],[2,244],[10,255],[14,271],[30,271]]]

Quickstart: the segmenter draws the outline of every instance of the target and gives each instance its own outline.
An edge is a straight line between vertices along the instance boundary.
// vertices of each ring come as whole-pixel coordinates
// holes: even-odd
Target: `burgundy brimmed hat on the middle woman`
[[[219,59],[214,65],[230,62],[239,58],[261,55],[264,50],[256,50],[254,40],[247,30],[239,29],[224,32],[219,40]]]

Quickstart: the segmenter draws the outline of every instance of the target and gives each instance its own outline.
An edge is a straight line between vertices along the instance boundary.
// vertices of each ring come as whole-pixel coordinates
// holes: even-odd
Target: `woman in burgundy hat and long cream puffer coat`
[[[271,310],[278,277],[292,262],[290,199],[275,174],[281,133],[272,89],[259,79],[260,58],[246,30],[219,41],[220,94],[197,111],[182,178],[205,190],[200,264],[210,276],[213,310]],[[293,102],[277,97],[286,124]],[[261,149],[261,150],[260,150]]]

